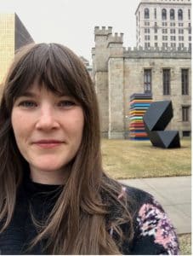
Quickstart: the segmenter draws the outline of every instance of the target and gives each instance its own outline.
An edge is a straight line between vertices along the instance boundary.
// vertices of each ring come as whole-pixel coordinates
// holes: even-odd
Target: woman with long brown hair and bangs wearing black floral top
[[[15,55],[0,143],[1,253],[178,253],[153,197],[105,175],[94,86],[70,49],[30,44]]]

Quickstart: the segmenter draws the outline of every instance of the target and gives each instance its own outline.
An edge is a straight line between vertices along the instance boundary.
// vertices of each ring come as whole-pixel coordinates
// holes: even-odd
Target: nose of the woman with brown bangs
[[[38,130],[49,131],[60,127],[60,123],[56,118],[54,109],[50,106],[43,106],[38,114],[36,128]]]

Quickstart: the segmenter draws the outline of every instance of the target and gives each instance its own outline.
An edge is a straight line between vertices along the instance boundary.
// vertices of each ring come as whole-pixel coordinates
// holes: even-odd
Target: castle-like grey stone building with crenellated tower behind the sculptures
[[[103,137],[129,137],[130,96],[145,92],[152,93],[153,101],[171,100],[173,119],[167,129],[190,136],[190,49],[125,49],[123,34],[113,35],[111,26],[96,26],[94,38],[93,73]]]

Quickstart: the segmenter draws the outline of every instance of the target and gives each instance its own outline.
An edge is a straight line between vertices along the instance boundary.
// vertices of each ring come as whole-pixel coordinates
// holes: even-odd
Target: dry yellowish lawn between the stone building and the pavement
[[[181,148],[156,148],[150,141],[102,140],[105,172],[116,179],[190,175],[191,141]]]

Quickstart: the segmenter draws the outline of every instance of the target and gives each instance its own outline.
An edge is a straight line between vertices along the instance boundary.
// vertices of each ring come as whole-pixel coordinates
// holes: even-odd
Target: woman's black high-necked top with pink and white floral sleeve
[[[54,201],[50,203],[50,192],[58,195],[59,188],[57,187],[57,185],[43,185],[32,183],[31,180],[26,181],[24,188],[20,189],[17,196],[14,218],[9,227],[0,234],[0,254],[26,254],[29,242],[37,236],[37,230],[31,221],[28,201],[31,201],[31,207],[36,218],[41,220],[53,206]],[[48,194],[42,192],[48,192]],[[134,236],[132,242],[128,241],[126,237],[122,245],[119,246],[122,254],[178,254],[177,236],[162,207],[150,194],[140,189],[122,187],[122,193],[118,199],[122,200],[126,195],[134,202]],[[57,196],[54,198],[56,200]],[[120,207],[112,205],[112,216],[117,216],[119,209]],[[122,214],[122,212],[118,212],[118,214]],[[109,232],[116,241],[116,230],[111,227],[111,223],[109,227]],[[128,229],[128,224],[122,225],[123,233],[126,234]],[[28,253],[43,254],[43,244],[37,244]]]

